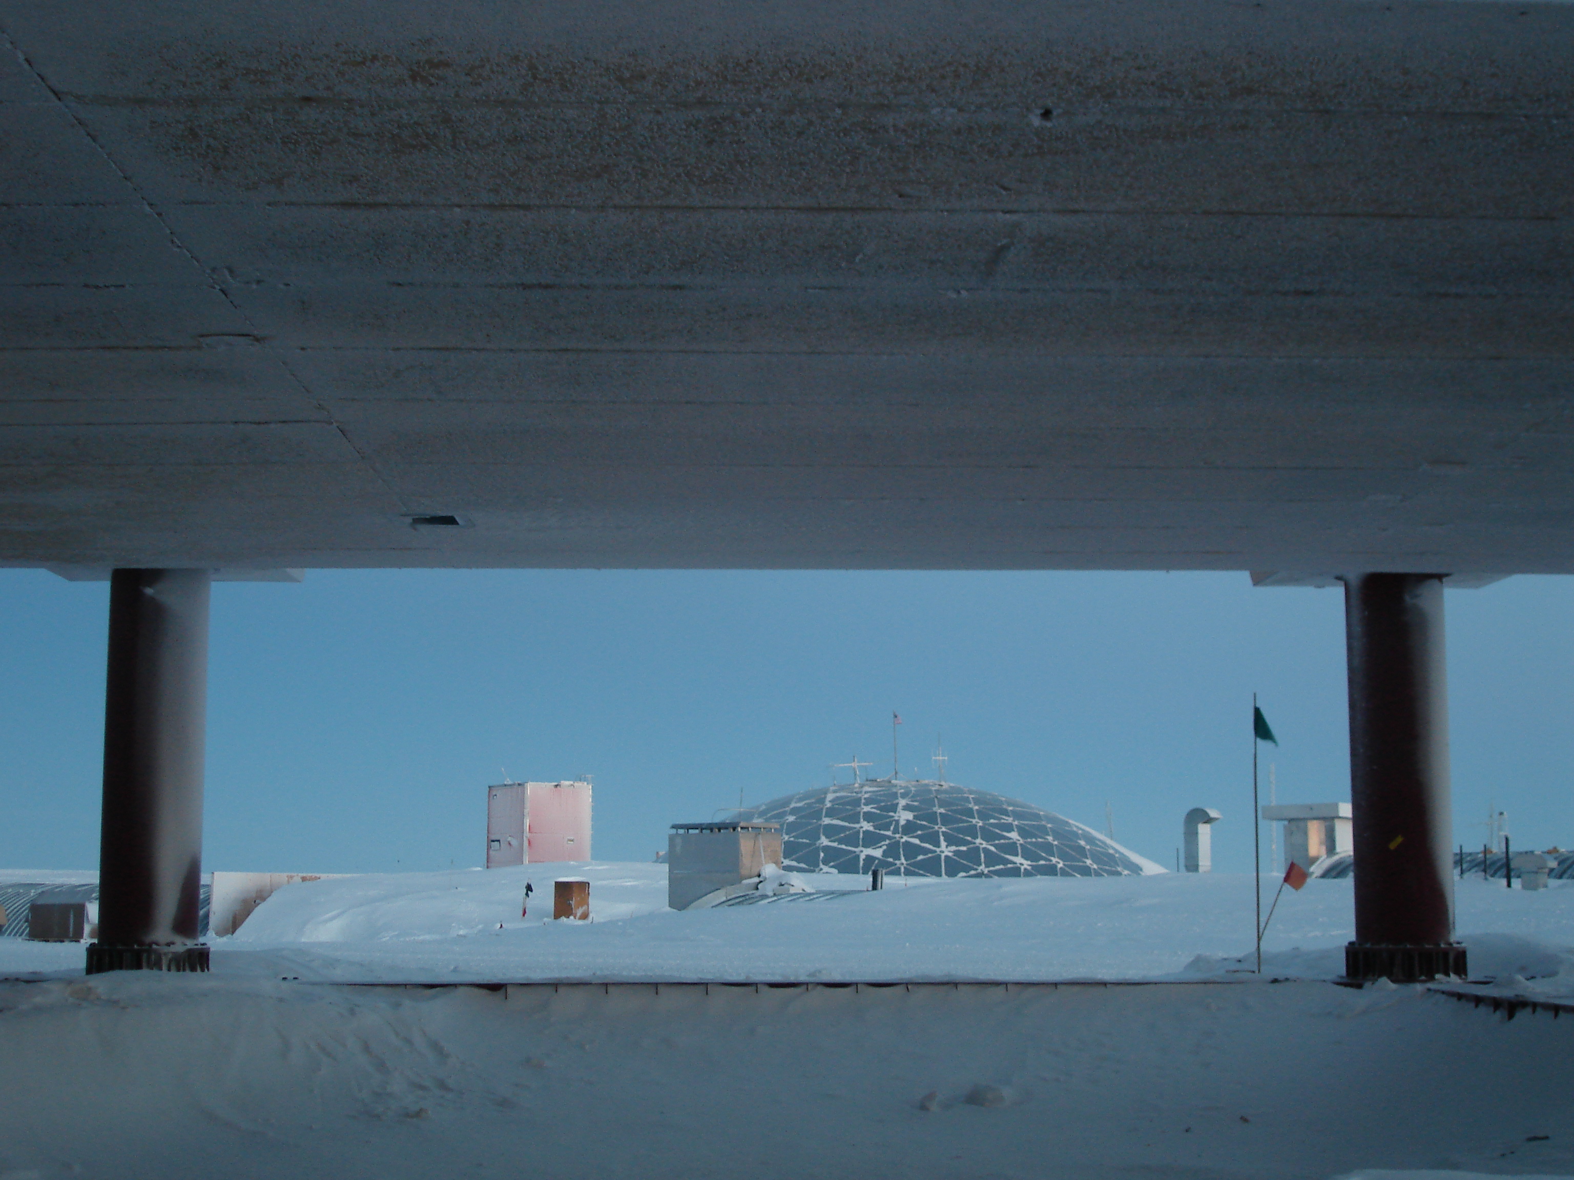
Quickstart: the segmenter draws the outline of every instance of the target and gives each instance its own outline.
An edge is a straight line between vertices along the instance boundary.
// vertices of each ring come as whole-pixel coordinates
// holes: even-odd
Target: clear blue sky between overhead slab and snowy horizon
[[[0,865],[98,862],[105,584],[0,571]],[[1574,842],[1574,581],[1450,592],[1454,839]],[[1251,865],[1250,708],[1278,798],[1349,798],[1343,598],[1245,574],[310,571],[219,584],[205,861],[474,865],[485,793],[595,777],[598,859],[829,782],[949,776],[1174,862],[1217,807]],[[845,779],[848,771],[839,771]],[[1264,848],[1267,829],[1264,828]]]

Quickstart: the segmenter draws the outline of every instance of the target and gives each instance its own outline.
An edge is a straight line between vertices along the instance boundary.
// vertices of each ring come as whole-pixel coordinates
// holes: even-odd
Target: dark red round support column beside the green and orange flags
[[[1454,936],[1440,574],[1344,577],[1355,941],[1349,979],[1464,975]]]

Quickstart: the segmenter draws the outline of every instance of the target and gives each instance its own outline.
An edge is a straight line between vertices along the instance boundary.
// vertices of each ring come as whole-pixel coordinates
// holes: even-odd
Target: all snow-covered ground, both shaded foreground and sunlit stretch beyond
[[[1258,979],[1250,876],[671,913],[661,865],[541,868],[288,886],[206,977],[0,939],[54,975],[0,983],[0,1180],[1574,1175],[1574,1020],[1325,982],[1349,881],[1286,892]],[[543,922],[568,875],[593,922]],[[1473,974],[1574,996],[1574,883],[1458,908]],[[387,985],[466,980],[512,986]]]

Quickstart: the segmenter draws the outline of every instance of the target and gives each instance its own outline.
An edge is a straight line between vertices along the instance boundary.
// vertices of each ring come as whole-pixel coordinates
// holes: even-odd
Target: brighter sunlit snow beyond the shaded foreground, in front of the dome
[[[593,922],[549,920],[557,876],[590,879]],[[526,879],[537,892],[521,917]],[[1251,966],[1247,875],[911,878],[875,894],[856,876],[803,879],[856,892],[672,913],[664,865],[601,862],[291,884],[235,938],[212,941],[214,971],[340,982],[841,982],[1209,979]],[[1473,975],[1574,996],[1574,883],[1527,894],[1461,881],[1458,913]],[[1332,979],[1352,933],[1350,881],[1286,891],[1265,971]],[[80,947],[0,941],[0,974],[74,972],[80,963]]]

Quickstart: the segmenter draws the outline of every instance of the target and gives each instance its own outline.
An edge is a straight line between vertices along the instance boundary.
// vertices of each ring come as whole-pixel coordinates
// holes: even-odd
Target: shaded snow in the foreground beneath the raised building
[[[482,991],[116,972],[0,983],[0,1175],[1568,1174],[1571,1037],[1566,1020],[1505,1023],[1413,986]]]

